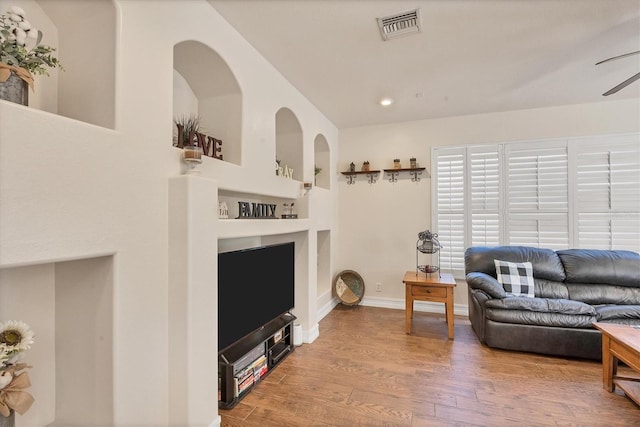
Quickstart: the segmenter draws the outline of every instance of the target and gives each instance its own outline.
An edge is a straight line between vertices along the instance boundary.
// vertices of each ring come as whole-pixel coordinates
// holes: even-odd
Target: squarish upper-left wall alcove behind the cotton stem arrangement
[[[0,0],[0,13],[13,5]],[[117,14],[113,0],[22,0],[18,5],[31,25],[42,31],[41,45],[55,48],[53,56],[64,67],[64,71],[48,69],[49,76],[35,76],[29,107],[115,128]]]

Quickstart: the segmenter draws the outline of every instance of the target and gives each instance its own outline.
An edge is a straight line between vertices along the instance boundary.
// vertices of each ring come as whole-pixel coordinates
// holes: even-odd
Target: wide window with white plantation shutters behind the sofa
[[[640,251],[640,135],[432,151],[441,268],[470,246]]]

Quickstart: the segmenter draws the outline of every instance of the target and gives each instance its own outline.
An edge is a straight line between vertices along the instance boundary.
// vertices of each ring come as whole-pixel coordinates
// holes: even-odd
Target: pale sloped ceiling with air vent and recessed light
[[[209,0],[337,127],[635,98],[640,0]],[[383,41],[376,18],[420,9]],[[395,102],[381,107],[382,97]]]

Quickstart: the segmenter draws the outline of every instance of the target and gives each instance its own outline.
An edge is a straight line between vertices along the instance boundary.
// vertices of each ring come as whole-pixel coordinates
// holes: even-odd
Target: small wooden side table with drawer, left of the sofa
[[[406,289],[406,319],[407,334],[411,333],[411,320],[413,319],[414,301],[443,302],[449,329],[449,339],[453,339],[453,288],[456,281],[452,274],[429,274],[407,271],[402,282]]]

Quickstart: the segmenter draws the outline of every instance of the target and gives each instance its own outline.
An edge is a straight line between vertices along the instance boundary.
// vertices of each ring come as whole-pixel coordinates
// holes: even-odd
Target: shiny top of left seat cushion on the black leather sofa
[[[503,310],[525,310],[538,313],[562,313],[569,315],[586,314],[597,315],[595,307],[580,301],[555,298],[525,298],[510,297],[503,299],[492,299],[485,303],[487,308]]]

